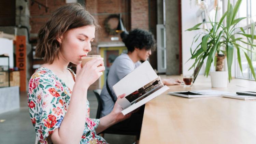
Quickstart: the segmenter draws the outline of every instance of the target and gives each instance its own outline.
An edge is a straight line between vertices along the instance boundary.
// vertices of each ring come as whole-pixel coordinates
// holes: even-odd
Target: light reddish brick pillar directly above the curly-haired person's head
[[[131,29],[148,30],[148,0],[131,0]]]

